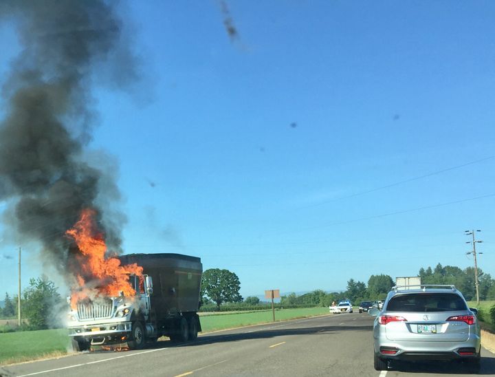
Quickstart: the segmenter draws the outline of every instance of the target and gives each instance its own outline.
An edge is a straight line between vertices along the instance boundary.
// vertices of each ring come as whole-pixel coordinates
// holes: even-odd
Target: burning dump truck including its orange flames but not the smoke
[[[74,241],[67,327],[76,351],[127,343],[131,349],[169,336],[195,339],[201,331],[201,259],[179,254],[113,255],[87,209],[66,235]],[[71,266],[72,265],[72,266]],[[154,283],[154,286],[153,286]]]

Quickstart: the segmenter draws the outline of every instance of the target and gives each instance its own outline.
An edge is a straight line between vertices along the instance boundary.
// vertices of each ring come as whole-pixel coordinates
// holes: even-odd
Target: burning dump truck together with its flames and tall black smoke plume
[[[201,330],[201,261],[119,256],[118,169],[87,149],[98,118],[93,84],[134,91],[139,78],[118,14],[105,0],[0,1],[20,44],[1,77],[0,221],[13,239],[39,244],[43,266],[64,279],[78,350],[139,348],[161,335],[184,341]]]

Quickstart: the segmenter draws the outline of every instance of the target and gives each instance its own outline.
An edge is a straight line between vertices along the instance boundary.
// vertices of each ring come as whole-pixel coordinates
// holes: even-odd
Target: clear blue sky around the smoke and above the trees
[[[121,5],[142,79],[95,78],[88,153],[118,165],[124,250],[199,256],[247,297],[472,266],[476,228],[494,276],[495,4],[225,3],[234,39],[218,1]],[[5,78],[9,23],[0,43]],[[17,247],[0,241],[0,292]]]

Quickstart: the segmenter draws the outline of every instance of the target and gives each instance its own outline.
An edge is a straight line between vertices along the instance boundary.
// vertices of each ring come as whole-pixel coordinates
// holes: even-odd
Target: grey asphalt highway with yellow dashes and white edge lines
[[[84,352],[0,368],[1,376],[472,376],[458,363],[410,363],[373,369],[373,318],[330,314],[157,342],[139,351]],[[481,375],[495,375],[482,350]]]

